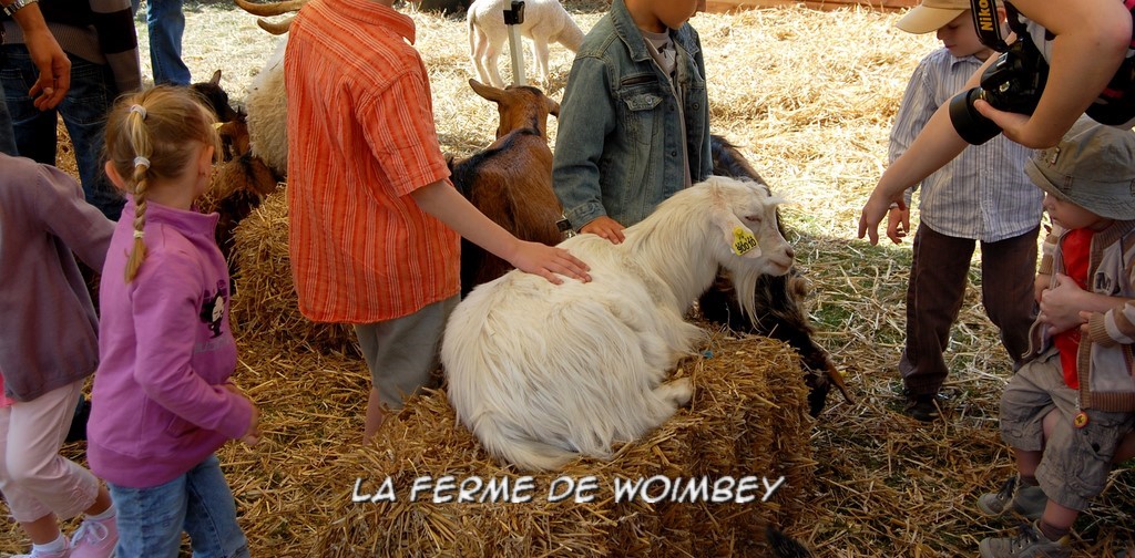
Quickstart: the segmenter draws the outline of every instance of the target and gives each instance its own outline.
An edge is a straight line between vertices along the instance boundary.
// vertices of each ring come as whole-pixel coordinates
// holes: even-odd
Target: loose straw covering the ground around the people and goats
[[[602,6],[568,2],[585,29]],[[463,20],[413,17],[417,46],[431,71],[443,147],[462,155],[488,144],[496,115],[465,84]],[[805,496],[808,506],[788,525],[819,556],[973,556],[978,540],[1014,524],[981,517],[973,507],[977,494],[1012,472],[997,432],[998,397],[1011,372],[982,313],[980,277],[970,274],[973,288],[947,355],[948,420],[916,424],[898,413],[896,370],[909,247],[854,239],[859,208],[885,166],[886,134],[906,79],[936,45],[932,36],[894,29],[898,17],[775,9],[698,15],[692,22],[705,46],[714,129],[740,144],[768,183],[796,202],[787,208],[787,223],[815,285],[810,303],[818,340],[846,370],[858,398],[856,405],[833,398],[815,424],[815,482]],[[222,68],[222,85],[243,99],[274,39],[221,1],[191,2],[187,18],[186,59],[194,75]],[[553,98],[562,94],[570,60],[553,48]],[[507,71],[507,57],[501,62]],[[554,122],[549,134],[554,137]],[[260,405],[266,436],[255,450],[228,447],[221,457],[253,555],[319,556],[314,544],[329,529],[328,517],[346,514],[354,476],[369,474],[358,470],[370,466],[367,459],[381,459],[355,449],[365,366],[342,353],[269,344],[247,330],[241,345],[236,379]],[[1074,556],[1112,556],[1135,539],[1132,475],[1129,467],[1118,471],[1082,516]],[[346,532],[352,525],[336,527]],[[0,551],[16,551],[23,536],[7,529]],[[636,553],[609,553],[624,552]]]

